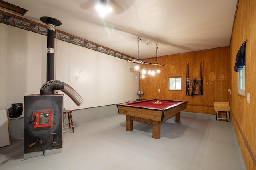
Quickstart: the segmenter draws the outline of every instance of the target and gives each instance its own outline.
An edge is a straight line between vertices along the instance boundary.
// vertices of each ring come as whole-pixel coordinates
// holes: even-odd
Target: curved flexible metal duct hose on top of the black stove
[[[50,80],[44,83],[40,90],[40,95],[52,95],[54,90],[61,90],[67,94],[77,106],[84,102],[84,99],[68,84],[59,80]]]

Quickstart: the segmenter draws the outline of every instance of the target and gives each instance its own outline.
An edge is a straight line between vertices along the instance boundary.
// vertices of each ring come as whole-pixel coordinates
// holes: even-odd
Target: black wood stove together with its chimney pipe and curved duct
[[[54,80],[55,26],[61,22],[51,17],[41,17],[47,23],[47,82],[40,94],[24,96],[24,158],[62,152],[63,94],[66,93],[78,106],[84,102],[68,84]]]

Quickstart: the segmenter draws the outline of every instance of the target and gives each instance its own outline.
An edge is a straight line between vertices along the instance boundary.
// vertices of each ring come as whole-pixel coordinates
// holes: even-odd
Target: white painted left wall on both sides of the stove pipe
[[[39,93],[46,82],[47,37],[0,23],[0,110],[24,104],[24,96]],[[64,107],[83,109],[135,100],[138,72],[134,63],[57,40],[56,80],[84,98],[76,106],[64,95]],[[22,117],[22,116],[21,116]]]

